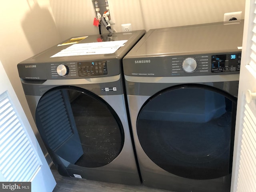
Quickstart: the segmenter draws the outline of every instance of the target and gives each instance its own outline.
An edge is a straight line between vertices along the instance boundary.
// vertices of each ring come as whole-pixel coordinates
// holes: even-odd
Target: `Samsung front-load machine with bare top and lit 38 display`
[[[144,185],[230,192],[243,21],[149,30],[123,59]]]

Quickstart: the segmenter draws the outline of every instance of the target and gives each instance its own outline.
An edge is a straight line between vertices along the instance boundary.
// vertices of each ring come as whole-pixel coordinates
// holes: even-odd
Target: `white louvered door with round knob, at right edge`
[[[246,0],[232,192],[256,192],[256,1]]]

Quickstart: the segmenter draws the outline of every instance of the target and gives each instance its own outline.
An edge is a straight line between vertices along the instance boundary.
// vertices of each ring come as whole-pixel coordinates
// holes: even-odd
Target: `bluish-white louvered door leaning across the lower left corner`
[[[31,182],[51,192],[56,182],[0,62],[0,182]]]

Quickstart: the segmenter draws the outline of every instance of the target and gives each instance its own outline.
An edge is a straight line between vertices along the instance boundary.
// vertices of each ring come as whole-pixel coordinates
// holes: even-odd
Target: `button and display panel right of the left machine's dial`
[[[108,74],[106,61],[77,62],[78,76],[98,76]]]

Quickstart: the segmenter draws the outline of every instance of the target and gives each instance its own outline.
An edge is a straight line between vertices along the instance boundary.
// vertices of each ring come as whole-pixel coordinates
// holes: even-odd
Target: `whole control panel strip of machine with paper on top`
[[[20,78],[30,80],[82,79],[120,74],[120,60],[77,60],[18,64]]]

